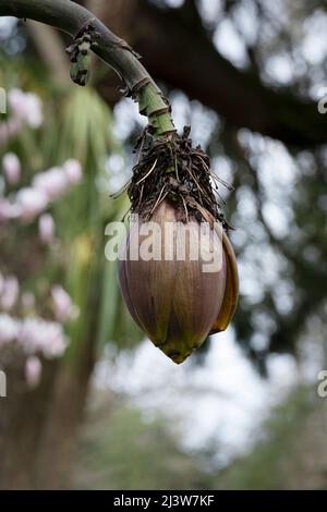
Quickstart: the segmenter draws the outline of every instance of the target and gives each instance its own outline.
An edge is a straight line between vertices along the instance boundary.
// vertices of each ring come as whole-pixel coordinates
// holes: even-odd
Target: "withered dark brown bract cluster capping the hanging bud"
[[[129,186],[132,211],[149,219],[168,198],[177,207],[178,220],[185,222],[193,215],[201,222],[208,211],[228,229],[210,179],[220,180],[210,170],[209,157],[201,146],[192,146],[189,135],[190,127],[185,126],[182,136],[154,139],[145,132],[140,137],[140,158]]]

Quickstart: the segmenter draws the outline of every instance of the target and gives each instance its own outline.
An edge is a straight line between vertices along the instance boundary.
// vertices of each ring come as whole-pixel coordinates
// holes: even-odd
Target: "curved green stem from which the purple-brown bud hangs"
[[[174,131],[170,112],[167,112],[167,101],[136,53],[87,9],[70,0],[0,0],[0,16],[35,20],[59,28],[72,37],[92,21],[100,36],[97,40],[98,47],[94,49],[95,53],[124,81],[130,95],[143,103],[140,111],[148,117],[155,127],[155,134],[162,136]]]

